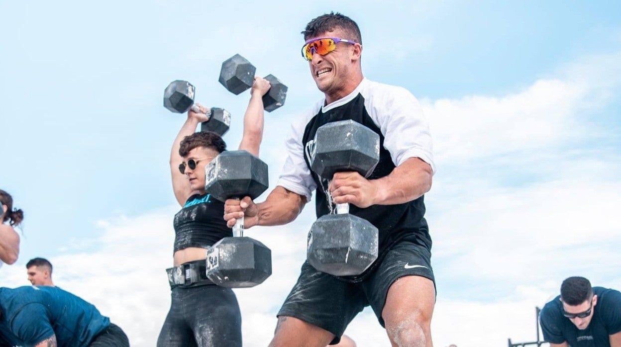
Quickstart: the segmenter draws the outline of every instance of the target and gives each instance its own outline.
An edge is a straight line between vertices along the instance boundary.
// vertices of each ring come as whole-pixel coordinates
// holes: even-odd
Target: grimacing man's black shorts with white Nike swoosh
[[[416,275],[434,281],[431,253],[425,246],[399,241],[380,258],[372,273],[363,281],[350,283],[315,270],[306,261],[300,277],[278,316],[295,317],[330,331],[340,341],[347,325],[366,306],[371,305],[384,327],[382,310],[388,289],[403,276]]]

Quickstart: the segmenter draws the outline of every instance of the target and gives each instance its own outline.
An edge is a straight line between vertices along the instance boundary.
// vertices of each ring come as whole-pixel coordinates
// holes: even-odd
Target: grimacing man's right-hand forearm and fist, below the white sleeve
[[[432,168],[420,158],[409,158],[388,176],[365,179],[356,172],[335,173],[329,190],[335,204],[348,202],[361,208],[403,204],[431,189]]]

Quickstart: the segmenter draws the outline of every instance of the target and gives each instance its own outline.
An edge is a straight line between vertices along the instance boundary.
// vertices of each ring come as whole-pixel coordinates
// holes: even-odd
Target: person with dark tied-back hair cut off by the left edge
[[[19,256],[19,234],[15,231],[24,220],[24,211],[13,209],[13,197],[0,189],[0,268],[14,264]],[[7,224],[8,222],[8,224]]]

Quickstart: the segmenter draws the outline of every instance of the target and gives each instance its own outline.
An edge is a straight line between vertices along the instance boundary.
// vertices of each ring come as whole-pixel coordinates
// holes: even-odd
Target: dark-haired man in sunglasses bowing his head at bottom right
[[[621,292],[591,287],[584,277],[565,279],[539,318],[551,347],[621,347]]]

